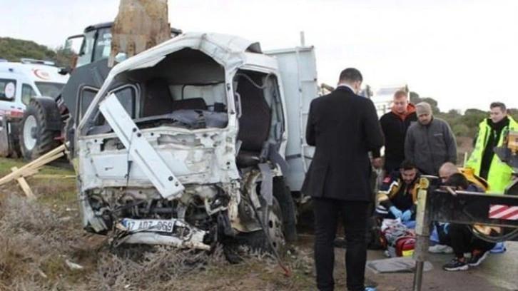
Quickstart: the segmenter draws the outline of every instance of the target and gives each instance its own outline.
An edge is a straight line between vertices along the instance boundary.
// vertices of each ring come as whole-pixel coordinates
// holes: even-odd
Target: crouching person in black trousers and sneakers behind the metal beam
[[[452,190],[469,190],[469,182],[461,173],[454,173],[448,178],[445,186]],[[483,191],[480,191],[483,192]],[[487,258],[489,250],[494,247],[493,242],[487,242],[477,238],[473,231],[484,232],[487,235],[497,234],[499,228],[491,228],[484,225],[459,225],[450,224],[450,241],[453,247],[455,257],[442,266],[447,271],[464,271],[469,267],[475,267]],[[467,259],[464,253],[471,253],[471,257]]]

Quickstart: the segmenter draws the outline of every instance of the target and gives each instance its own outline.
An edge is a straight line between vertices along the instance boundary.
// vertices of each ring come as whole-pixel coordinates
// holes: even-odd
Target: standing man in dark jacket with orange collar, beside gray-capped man
[[[397,91],[392,101],[392,111],[385,113],[381,119],[381,129],[385,136],[385,175],[390,175],[400,168],[405,160],[405,136],[407,129],[417,121],[415,107],[408,101],[406,91]],[[380,152],[373,152],[373,158],[377,162]],[[379,162],[378,162],[379,163]]]

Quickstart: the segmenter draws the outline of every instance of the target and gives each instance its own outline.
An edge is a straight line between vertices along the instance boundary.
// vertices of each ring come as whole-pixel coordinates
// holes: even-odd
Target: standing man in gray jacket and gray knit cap
[[[415,106],[417,123],[408,128],[405,138],[405,157],[417,165],[425,175],[437,175],[446,162],[457,163],[457,143],[452,129],[432,115],[429,103]]]

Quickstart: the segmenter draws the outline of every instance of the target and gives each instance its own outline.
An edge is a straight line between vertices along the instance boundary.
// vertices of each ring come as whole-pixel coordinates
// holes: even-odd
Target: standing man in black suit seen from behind
[[[306,141],[315,155],[303,184],[315,212],[318,290],[333,290],[333,241],[342,217],[347,251],[347,289],[365,290],[367,206],[373,200],[368,152],[383,146],[374,104],[357,96],[363,78],[355,68],[340,73],[335,91],[311,102]]]

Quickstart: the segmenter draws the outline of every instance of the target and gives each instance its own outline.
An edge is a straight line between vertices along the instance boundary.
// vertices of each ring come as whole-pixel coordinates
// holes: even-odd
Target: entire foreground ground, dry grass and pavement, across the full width
[[[22,162],[0,160],[0,176]],[[70,174],[46,167],[44,174]],[[81,228],[75,180],[29,178],[38,197],[30,202],[16,183],[0,186],[0,291],[3,290],[316,290],[313,236],[304,230],[284,258],[285,277],[267,255],[248,254],[232,265],[212,254],[168,247],[112,249],[109,238]],[[422,290],[518,290],[518,244],[469,272],[445,272],[449,255],[430,257]],[[336,249],[336,290],[345,290],[345,250]],[[381,259],[370,251],[369,260]],[[377,290],[412,290],[412,273],[375,274]]]

